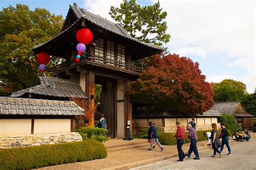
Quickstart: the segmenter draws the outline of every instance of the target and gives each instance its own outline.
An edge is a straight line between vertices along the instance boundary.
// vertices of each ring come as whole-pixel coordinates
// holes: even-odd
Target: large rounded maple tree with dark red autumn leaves
[[[143,98],[154,108],[201,113],[214,103],[212,88],[199,64],[176,54],[155,59],[131,85],[131,97]]]

